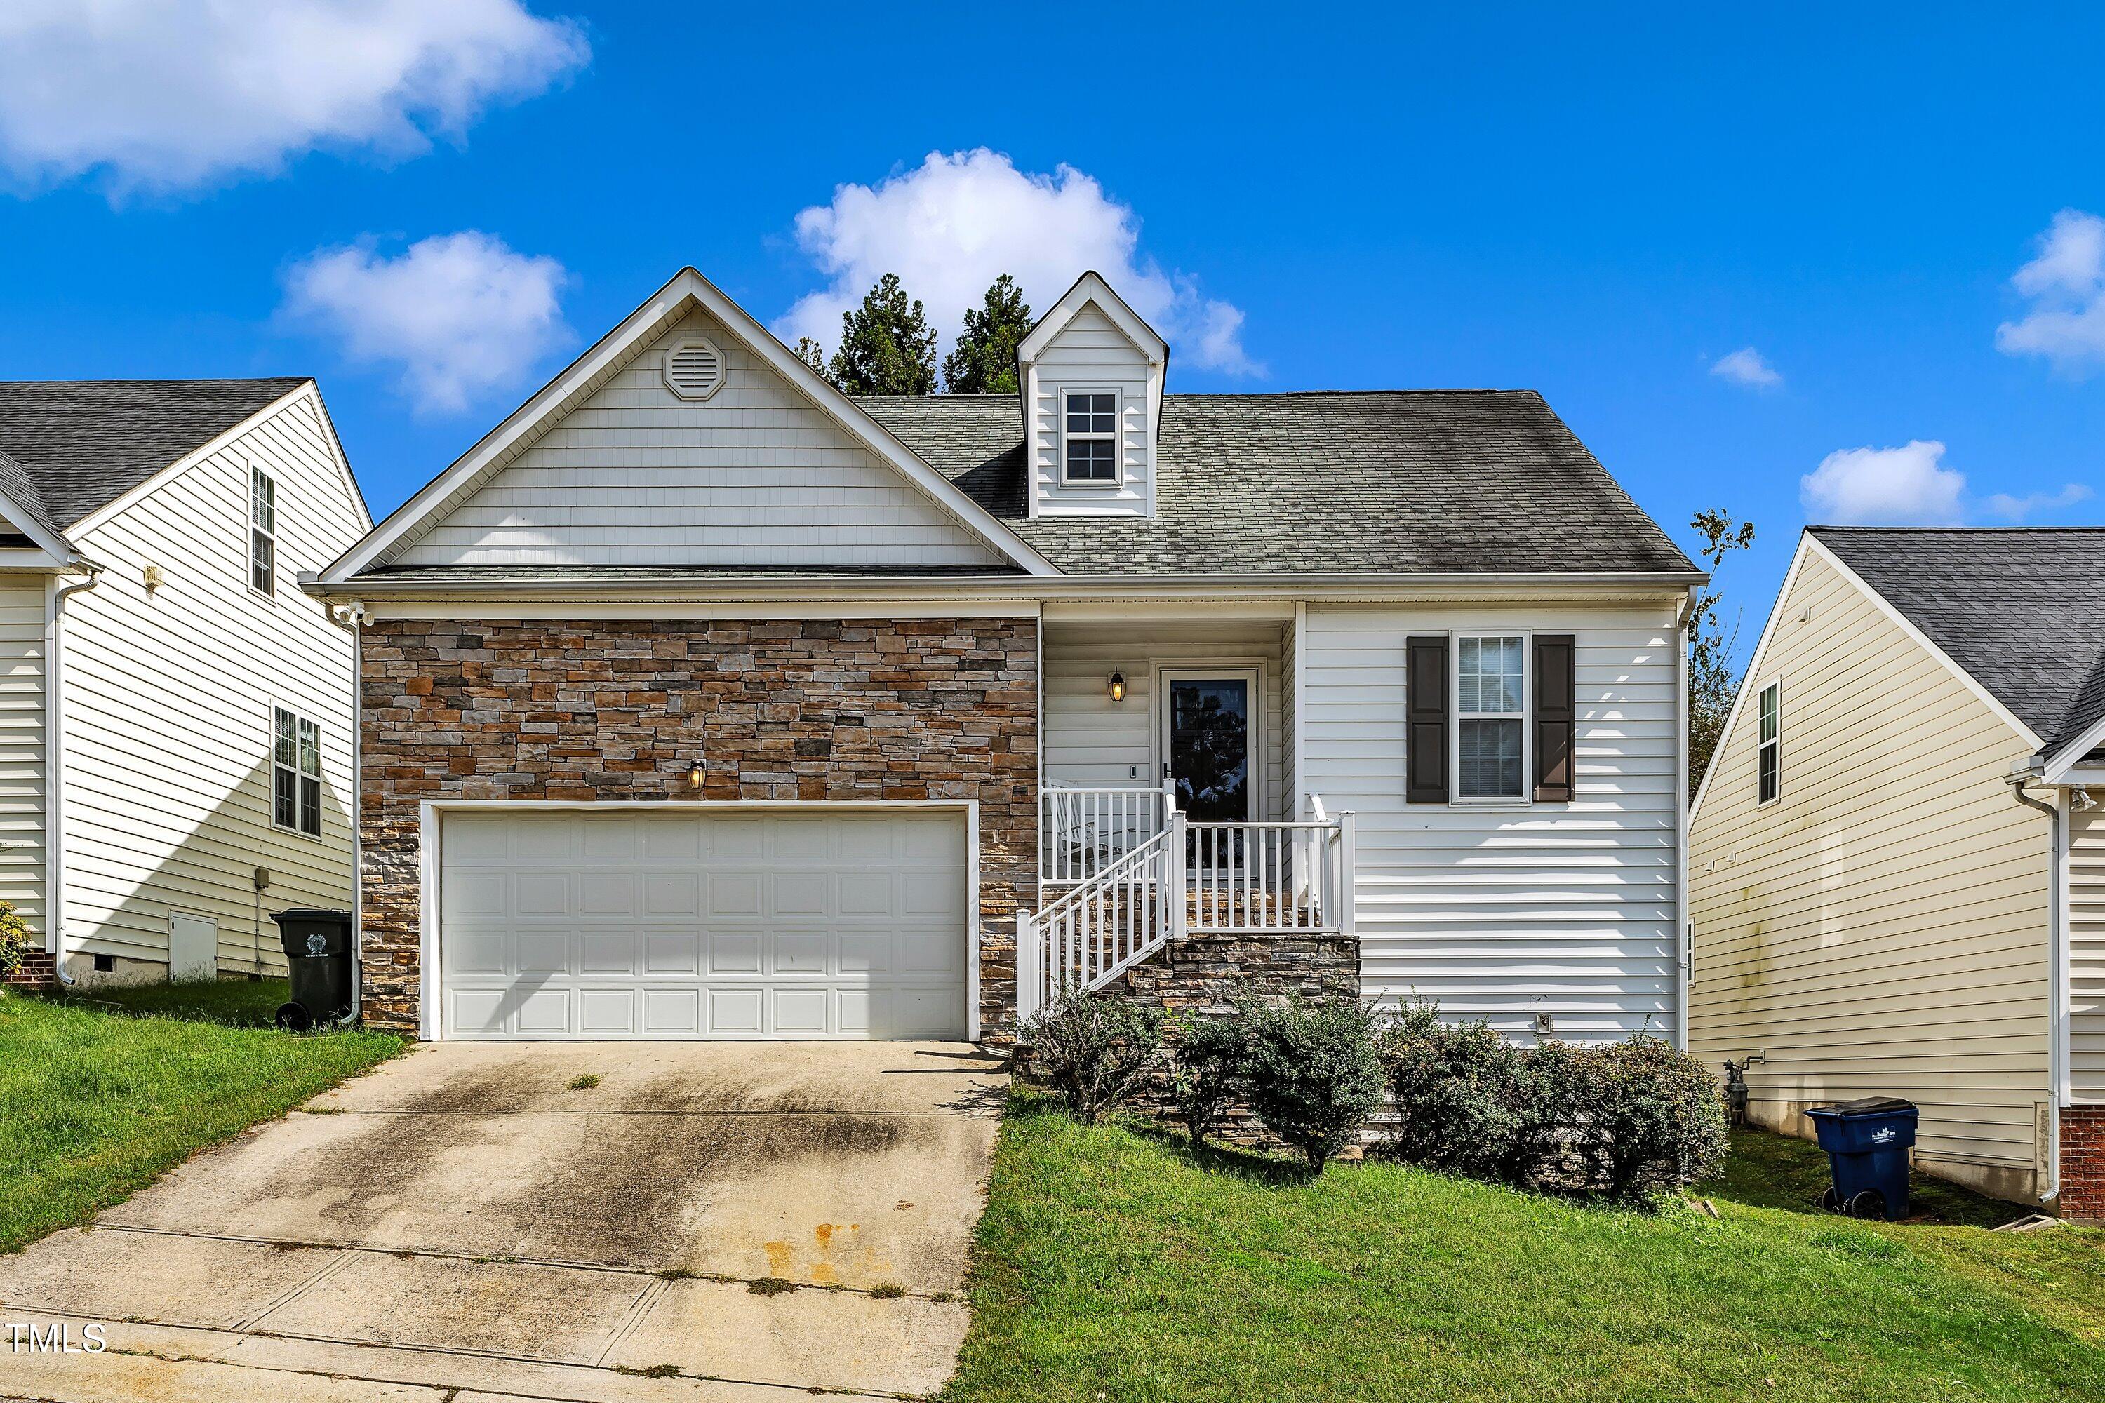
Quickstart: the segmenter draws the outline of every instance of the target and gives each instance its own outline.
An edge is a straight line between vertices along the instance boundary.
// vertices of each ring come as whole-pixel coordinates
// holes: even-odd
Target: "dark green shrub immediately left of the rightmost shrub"
[[[1406,1003],[1381,1035],[1396,1125],[1385,1155],[1427,1170],[1505,1178],[1520,1138],[1526,1060],[1484,1020],[1440,1022],[1440,1005]]]

